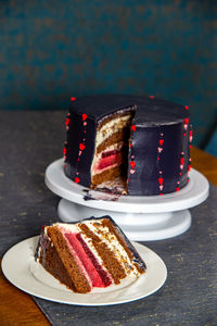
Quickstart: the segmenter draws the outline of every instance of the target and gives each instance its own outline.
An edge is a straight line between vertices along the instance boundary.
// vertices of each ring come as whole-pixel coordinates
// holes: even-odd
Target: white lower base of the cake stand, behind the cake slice
[[[189,210],[166,213],[122,213],[88,208],[61,199],[58,214],[63,222],[110,215],[130,240],[152,241],[179,236],[191,226]]]

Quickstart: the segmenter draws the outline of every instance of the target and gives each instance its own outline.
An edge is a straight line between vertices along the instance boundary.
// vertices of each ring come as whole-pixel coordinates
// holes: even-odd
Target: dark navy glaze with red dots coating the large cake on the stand
[[[190,159],[189,110],[161,99],[126,95],[87,96],[71,102],[65,161],[65,174],[71,179],[75,180],[77,177],[79,184],[86,187],[91,185],[90,168],[99,122],[135,105],[137,109],[130,136],[128,193],[163,195],[187,185]],[[164,140],[163,146],[159,146],[161,138]],[[81,151],[80,143],[85,145]],[[135,165],[130,165],[131,161]],[[159,189],[159,177],[163,179],[163,189]]]

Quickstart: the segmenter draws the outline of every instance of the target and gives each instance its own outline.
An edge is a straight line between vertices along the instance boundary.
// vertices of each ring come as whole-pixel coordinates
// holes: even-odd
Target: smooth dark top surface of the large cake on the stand
[[[182,122],[189,114],[183,105],[161,99],[130,95],[98,95],[76,99],[71,103],[71,111],[86,113],[89,118],[99,121],[118,110],[137,105],[135,123],[138,125],[161,125]]]

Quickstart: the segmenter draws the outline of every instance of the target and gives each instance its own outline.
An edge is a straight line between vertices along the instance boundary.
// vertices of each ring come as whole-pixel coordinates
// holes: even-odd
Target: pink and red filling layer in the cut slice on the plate
[[[104,288],[112,284],[112,279],[106,273],[97,258],[89,249],[87,243],[84,241],[79,234],[67,234],[64,236],[67,238],[69,246],[72,246],[73,251],[77,254],[78,259],[82,263],[89,278],[91,279],[92,286],[98,288]]]

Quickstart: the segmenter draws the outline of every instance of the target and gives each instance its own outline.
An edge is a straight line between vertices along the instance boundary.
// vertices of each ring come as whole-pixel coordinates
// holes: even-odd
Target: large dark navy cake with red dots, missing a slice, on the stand
[[[98,189],[119,178],[123,193],[152,196],[179,191],[189,181],[188,105],[154,97],[86,96],[72,98],[65,124],[64,172],[74,183]]]

